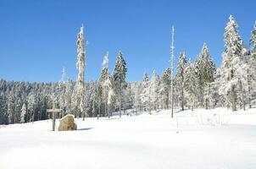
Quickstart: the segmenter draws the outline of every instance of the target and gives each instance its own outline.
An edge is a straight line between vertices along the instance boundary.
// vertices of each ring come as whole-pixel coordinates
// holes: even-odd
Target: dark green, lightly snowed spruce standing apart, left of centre
[[[122,52],[118,53],[116,63],[114,66],[114,93],[119,101],[120,117],[121,117],[121,106],[122,106],[122,94],[125,90],[125,77],[126,77],[126,63]]]

